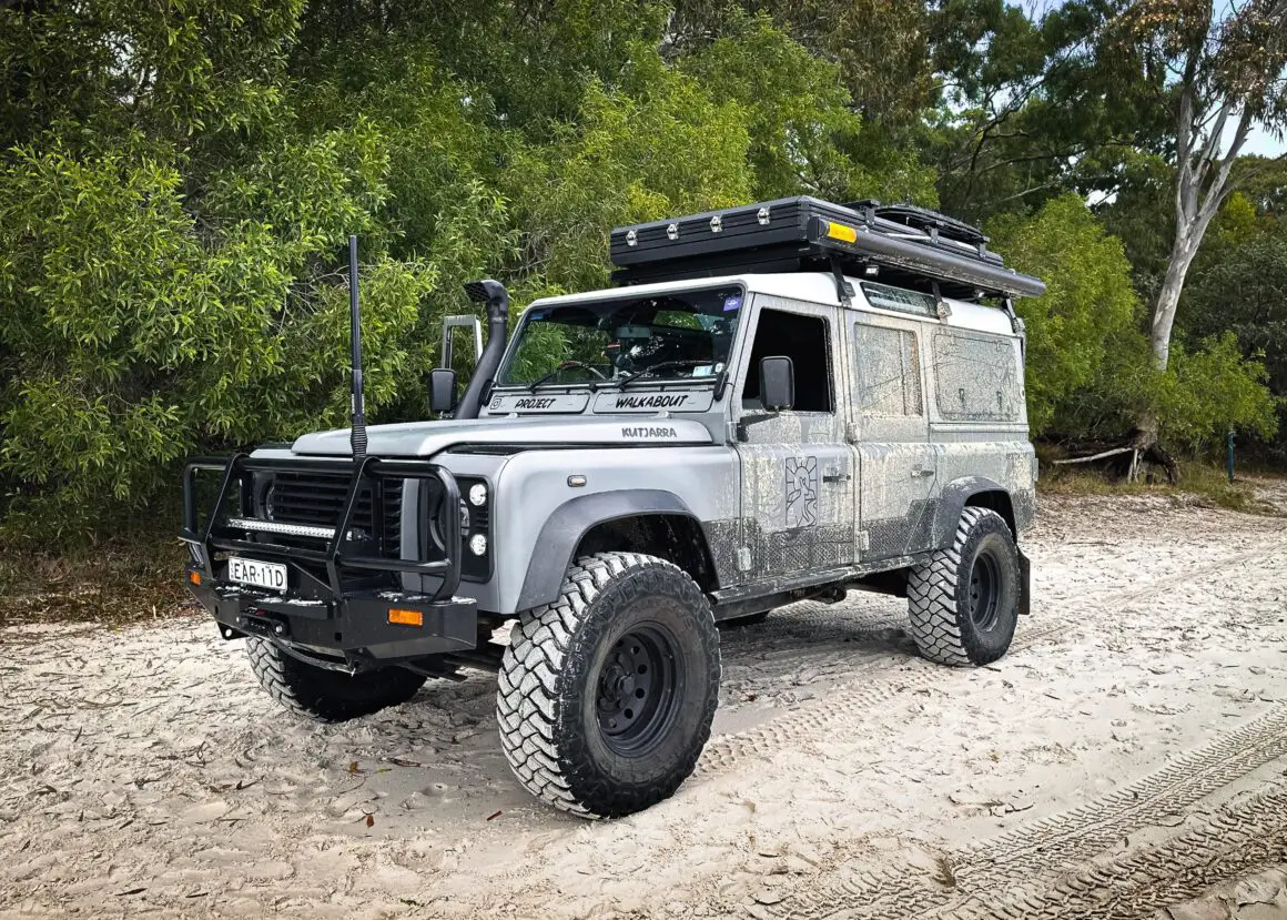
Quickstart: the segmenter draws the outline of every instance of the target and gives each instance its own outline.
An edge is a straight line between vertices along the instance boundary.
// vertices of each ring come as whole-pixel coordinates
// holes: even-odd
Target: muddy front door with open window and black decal
[[[744,547],[748,580],[811,575],[853,562],[856,484],[838,395],[848,385],[837,308],[755,296],[750,358],[740,400]],[[795,405],[768,414],[759,362],[785,355],[795,368]]]

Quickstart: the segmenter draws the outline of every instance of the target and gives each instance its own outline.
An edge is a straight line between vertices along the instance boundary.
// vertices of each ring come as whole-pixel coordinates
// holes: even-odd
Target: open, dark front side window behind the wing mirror
[[[784,310],[761,310],[755,341],[741,398],[745,408],[758,408],[759,360],[785,355],[795,365],[795,410],[833,412],[830,328],[820,317]]]

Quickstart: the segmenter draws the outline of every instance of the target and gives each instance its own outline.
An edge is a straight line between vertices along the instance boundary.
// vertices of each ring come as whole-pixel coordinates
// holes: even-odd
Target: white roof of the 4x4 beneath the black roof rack
[[[857,278],[848,278],[853,286],[853,306],[870,313],[887,317],[900,317],[907,319],[916,318],[914,314],[898,310],[885,310],[871,306],[862,293]],[[741,284],[748,293],[766,293],[773,297],[793,297],[811,304],[825,304],[839,306],[840,301],[835,295],[835,279],[826,271],[781,271],[770,274],[737,274],[721,275],[718,278],[685,278],[681,281],[665,281],[653,284],[631,284],[629,287],[604,288],[602,291],[586,291],[584,293],[565,293],[557,297],[542,297],[530,306],[551,306],[555,304],[580,304],[595,300],[616,299],[622,296],[637,295],[646,297],[650,295],[673,293],[677,291],[692,291],[698,287],[721,287],[727,284]],[[977,329],[979,332],[994,332],[1003,336],[1013,336],[1010,319],[995,306],[970,304],[963,300],[943,299],[951,306],[951,315],[947,326],[963,329]],[[924,319],[931,320],[925,317]],[[937,322],[937,320],[932,320]]]

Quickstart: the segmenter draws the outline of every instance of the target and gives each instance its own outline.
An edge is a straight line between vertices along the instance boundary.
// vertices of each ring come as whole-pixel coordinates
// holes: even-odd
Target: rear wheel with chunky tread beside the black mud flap
[[[995,661],[1014,638],[1021,591],[1019,552],[1005,519],[965,508],[951,546],[907,576],[911,637],[938,664]]]

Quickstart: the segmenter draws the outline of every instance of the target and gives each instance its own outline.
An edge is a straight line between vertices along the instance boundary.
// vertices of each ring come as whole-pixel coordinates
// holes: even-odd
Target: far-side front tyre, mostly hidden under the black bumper
[[[405,668],[360,674],[327,670],[292,658],[264,638],[246,639],[250,667],[268,695],[296,715],[317,722],[346,722],[405,703],[425,677]]]

